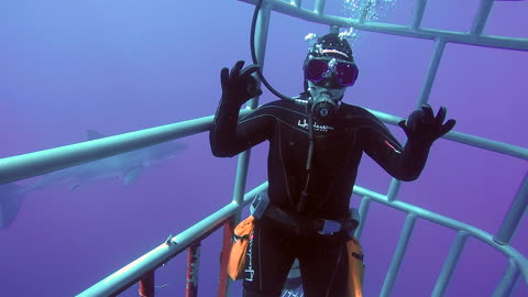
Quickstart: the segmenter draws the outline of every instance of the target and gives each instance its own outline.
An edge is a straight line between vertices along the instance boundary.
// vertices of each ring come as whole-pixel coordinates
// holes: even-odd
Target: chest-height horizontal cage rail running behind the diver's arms
[[[381,121],[397,125],[402,118],[367,109]],[[251,110],[242,109],[240,117]],[[64,169],[79,164],[118,155],[162,142],[177,140],[209,130],[213,116],[195,120],[139,130],[100,140],[87,141],[61,147],[0,158],[0,185]],[[528,160],[528,148],[451,131],[443,136],[447,140],[464,143],[475,147]],[[133,148],[129,148],[129,145]]]

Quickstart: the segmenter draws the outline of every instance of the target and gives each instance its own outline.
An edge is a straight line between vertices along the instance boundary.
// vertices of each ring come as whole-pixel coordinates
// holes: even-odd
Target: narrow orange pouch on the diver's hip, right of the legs
[[[363,297],[363,251],[360,242],[352,238],[346,242],[346,252],[349,254],[349,280],[348,288],[350,297]]]

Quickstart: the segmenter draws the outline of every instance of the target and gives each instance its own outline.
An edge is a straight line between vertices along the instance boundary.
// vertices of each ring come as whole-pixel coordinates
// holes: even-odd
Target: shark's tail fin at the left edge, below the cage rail
[[[0,185],[0,229],[8,228],[16,218],[22,204],[21,189],[14,184]]]

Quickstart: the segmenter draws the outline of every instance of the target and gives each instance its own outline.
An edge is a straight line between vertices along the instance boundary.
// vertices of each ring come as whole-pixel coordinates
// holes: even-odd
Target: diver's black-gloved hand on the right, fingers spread
[[[421,109],[413,111],[407,120],[400,121],[398,125],[404,129],[409,140],[432,143],[453,129],[457,123],[453,119],[443,123],[447,112],[446,107],[440,107],[435,117],[432,108],[424,105]]]

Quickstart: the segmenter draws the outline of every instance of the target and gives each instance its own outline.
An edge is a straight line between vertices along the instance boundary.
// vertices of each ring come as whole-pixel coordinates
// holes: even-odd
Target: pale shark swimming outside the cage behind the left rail
[[[87,130],[87,136],[91,141],[106,135],[95,130]],[[121,179],[124,186],[132,185],[146,168],[174,158],[187,147],[188,145],[180,141],[168,141],[45,174],[25,186],[13,183],[0,185],[0,229],[8,228],[14,221],[23,197],[29,191],[57,186],[66,186],[74,191],[81,185],[116,178]]]

